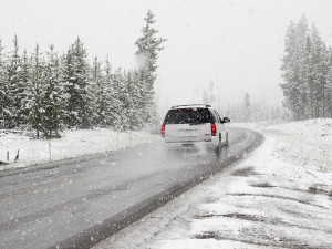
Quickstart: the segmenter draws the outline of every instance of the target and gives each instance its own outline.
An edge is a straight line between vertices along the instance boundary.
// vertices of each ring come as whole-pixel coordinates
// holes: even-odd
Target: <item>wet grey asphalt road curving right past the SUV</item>
[[[0,248],[90,248],[261,141],[232,128],[218,152],[159,142],[0,173]]]

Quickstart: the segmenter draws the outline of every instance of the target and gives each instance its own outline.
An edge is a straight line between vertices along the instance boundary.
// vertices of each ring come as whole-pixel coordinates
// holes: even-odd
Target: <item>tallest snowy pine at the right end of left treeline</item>
[[[141,81],[144,82],[142,85],[142,93],[145,93],[142,97],[144,98],[144,108],[142,116],[144,122],[153,123],[156,116],[155,103],[154,103],[154,83],[157,77],[157,59],[158,52],[164,46],[163,42],[166,41],[164,38],[157,38],[158,30],[153,28],[155,23],[154,14],[151,10],[147,11],[144,18],[145,25],[142,28],[142,37],[135,42],[137,45],[136,58],[138,62],[138,71],[141,74]]]

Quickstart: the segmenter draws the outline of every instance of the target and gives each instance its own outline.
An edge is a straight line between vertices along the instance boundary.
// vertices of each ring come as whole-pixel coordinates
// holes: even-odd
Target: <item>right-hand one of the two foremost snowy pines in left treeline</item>
[[[42,128],[44,135],[51,139],[52,137],[60,137],[59,132],[62,129],[64,106],[66,104],[59,58],[54,52],[54,45],[50,45],[43,79],[41,101],[45,112],[42,115]]]

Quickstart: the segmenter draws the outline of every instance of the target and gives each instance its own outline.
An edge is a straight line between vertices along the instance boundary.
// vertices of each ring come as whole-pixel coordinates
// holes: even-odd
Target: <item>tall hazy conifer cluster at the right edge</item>
[[[332,48],[304,15],[287,30],[281,71],[284,104],[294,120],[332,117]]]

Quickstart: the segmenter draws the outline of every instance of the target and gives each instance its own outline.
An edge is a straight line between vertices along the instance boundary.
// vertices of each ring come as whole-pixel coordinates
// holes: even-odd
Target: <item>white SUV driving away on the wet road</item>
[[[165,116],[162,137],[166,143],[228,145],[228,131],[224,126],[228,122],[210,105],[176,105]]]

